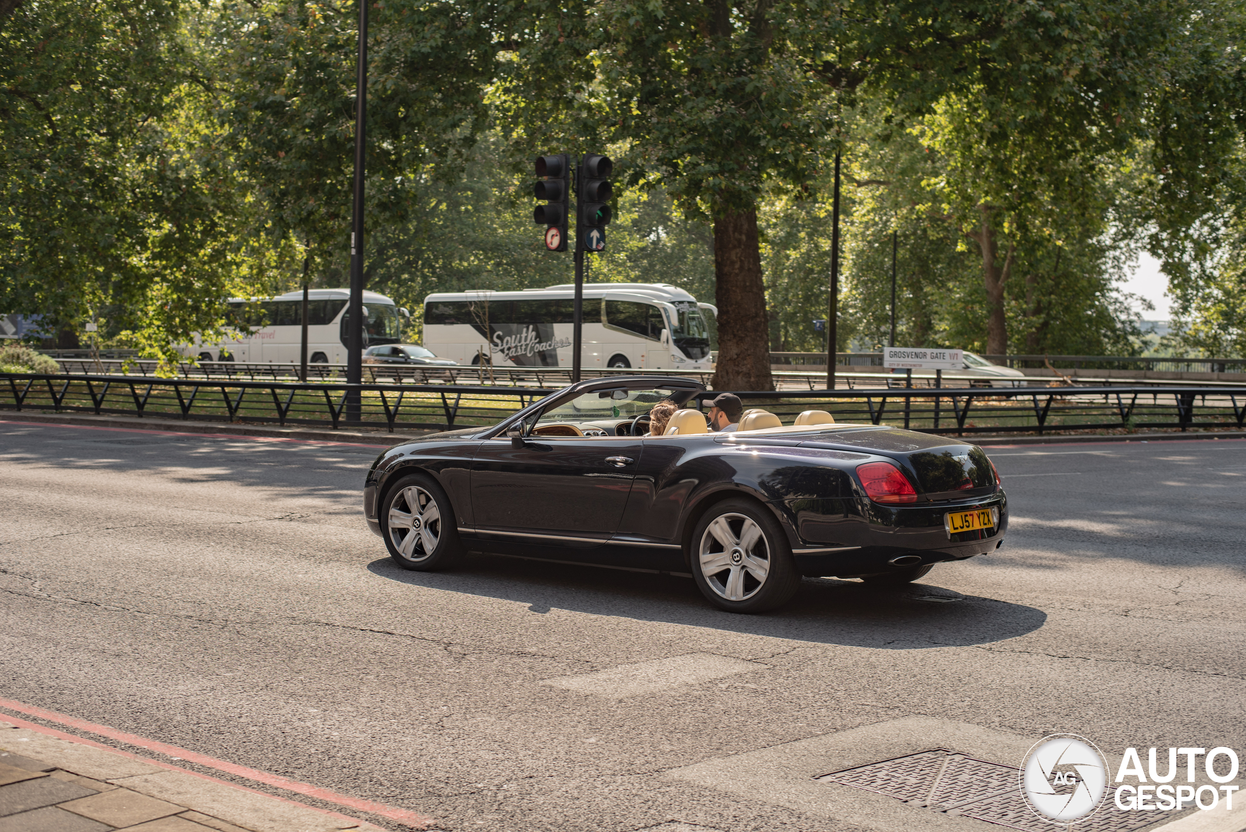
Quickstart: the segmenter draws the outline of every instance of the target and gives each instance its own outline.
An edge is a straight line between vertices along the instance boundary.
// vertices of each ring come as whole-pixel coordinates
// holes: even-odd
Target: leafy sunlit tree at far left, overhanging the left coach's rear
[[[0,16],[0,308],[169,356],[273,252],[206,120],[177,0],[25,2]]]

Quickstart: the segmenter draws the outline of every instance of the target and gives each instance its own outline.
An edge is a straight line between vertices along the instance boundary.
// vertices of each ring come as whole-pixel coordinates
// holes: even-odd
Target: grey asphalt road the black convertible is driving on
[[[989,452],[1002,549],[738,617],[678,577],[404,572],[376,448],[0,422],[0,696],[444,830],[852,828],[669,772],[911,715],[1246,746],[1246,441]],[[659,659],[744,671],[587,676]]]

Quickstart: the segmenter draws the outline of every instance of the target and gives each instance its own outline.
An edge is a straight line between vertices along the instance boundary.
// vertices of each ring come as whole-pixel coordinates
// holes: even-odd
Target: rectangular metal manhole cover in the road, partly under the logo
[[[819,782],[852,786],[902,800],[936,812],[961,815],[1024,832],[1053,832],[1063,825],[1035,816],[1018,785],[1019,768],[974,760],[947,749],[911,754],[815,777]],[[1155,817],[1123,812],[1109,788],[1104,806],[1089,820],[1075,823],[1078,832],[1133,832],[1155,823]]]

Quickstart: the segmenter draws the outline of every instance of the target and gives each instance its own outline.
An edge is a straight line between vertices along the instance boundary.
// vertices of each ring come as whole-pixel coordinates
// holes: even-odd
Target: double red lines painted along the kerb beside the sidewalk
[[[239,766],[233,762],[226,762],[224,760],[208,757],[196,751],[179,749],[176,745],[167,745],[164,742],[159,742],[158,740],[148,740],[146,737],[141,737],[135,734],[126,734],[125,731],[118,731],[117,729],[108,727],[107,725],[96,725],[95,722],[87,722],[86,720],[80,720],[75,716],[69,716],[66,714],[59,714],[56,711],[50,711],[42,707],[35,707],[34,705],[24,705],[21,702],[15,702],[11,699],[0,699],[0,707],[10,711],[17,711],[19,714],[26,714],[27,716],[37,716],[39,719],[47,720],[49,722],[57,722],[60,725],[75,727],[82,731],[90,731],[91,734],[106,736],[110,740],[116,740],[118,742],[125,742],[126,745],[133,745],[141,749],[147,749],[150,751],[163,754],[169,757],[186,760],[187,762],[194,762],[201,766],[206,766],[208,768],[216,768],[217,771],[226,771],[231,775],[245,777],[247,780],[254,780],[255,782],[264,783],[265,786],[275,786],[278,788],[284,788],[287,791],[298,792],[299,795],[307,795],[308,797],[315,797],[316,800],[325,801],[326,803],[336,803],[338,806],[346,806],[359,812],[370,812],[373,815],[379,815],[381,817],[386,817],[391,821],[397,821],[399,823],[402,823],[405,826],[412,826],[419,830],[426,828],[432,823],[432,818],[426,815],[410,812],[405,808],[395,808],[392,806],[385,806],[384,803],[374,803],[373,801],[360,800],[358,797],[350,797],[348,795],[339,795],[338,792],[329,791],[328,788],[312,786],[310,783],[302,783],[297,780],[287,780],[285,777],[282,777],[279,775],[272,775],[268,773],[267,771],[259,771],[257,768],[248,768],[247,766]],[[34,722],[27,722],[26,720],[17,719],[16,716],[0,714],[0,717],[4,717],[6,721],[14,722],[15,725],[20,725],[21,727],[30,729],[31,731],[39,731],[40,734],[55,736],[59,740],[69,740],[70,742],[81,742],[83,745],[90,745],[96,749],[103,749],[106,751],[112,751],[113,754],[121,754],[127,757],[132,757],[135,760],[141,760],[142,762],[147,762],[153,766],[159,766],[162,768],[171,768],[173,771],[183,771],[188,775],[202,777],[203,780],[211,780],[212,782],[218,782],[218,783],[223,782],[227,786],[233,786],[234,788],[242,788],[244,791],[255,792],[257,795],[264,795],[265,797],[285,801],[287,803],[297,802],[287,800],[284,797],[277,797],[275,795],[269,795],[267,792],[260,792],[254,788],[247,788],[245,786],[238,786],[237,783],[217,780],[216,777],[208,777],[207,775],[201,775],[194,771],[188,771],[186,768],[181,768],[178,766],[173,766],[166,762],[159,762],[157,760],[148,760],[147,757],[140,757],[136,754],[130,754],[128,751],[121,751],[120,749],[113,749],[112,746],[107,746],[101,742],[95,742],[92,740],[87,740],[85,737],[74,734],[65,734],[64,731],[57,731],[56,729],[36,725]],[[307,805],[299,803],[299,806],[307,806]],[[333,815],[335,817],[344,817],[350,821],[358,820],[353,817],[346,817],[345,815],[339,815],[338,812],[329,812],[323,808],[316,808],[315,806],[308,806],[308,808],[315,808],[318,812],[325,812],[326,815]]]

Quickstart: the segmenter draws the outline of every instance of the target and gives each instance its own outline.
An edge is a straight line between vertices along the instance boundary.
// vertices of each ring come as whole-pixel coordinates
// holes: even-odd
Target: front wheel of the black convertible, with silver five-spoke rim
[[[445,569],[462,554],[450,498],[427,475],[409,475],[394,483],[380,521],[385,548],[404,569]]]

